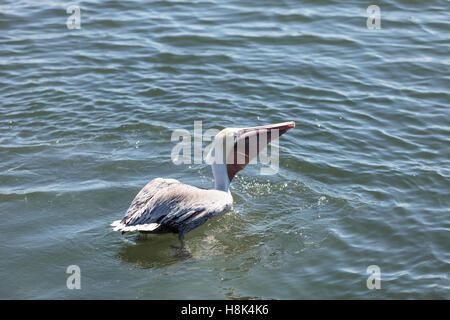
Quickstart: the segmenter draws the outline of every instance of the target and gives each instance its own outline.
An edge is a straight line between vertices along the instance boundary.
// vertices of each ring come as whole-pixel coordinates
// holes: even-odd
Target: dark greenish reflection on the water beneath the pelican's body
[[[133,235],[119,249],[117,257],[140,268],[165,268],[194,260],[189,246],[180,246],[173,235]]]

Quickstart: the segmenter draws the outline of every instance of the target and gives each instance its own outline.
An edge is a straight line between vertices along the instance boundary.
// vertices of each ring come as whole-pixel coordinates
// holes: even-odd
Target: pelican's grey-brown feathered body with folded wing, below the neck
[[[173,179],[150,181],[135,197],[115,231],[186,233],[231,206],[229,193],[203,190]]]

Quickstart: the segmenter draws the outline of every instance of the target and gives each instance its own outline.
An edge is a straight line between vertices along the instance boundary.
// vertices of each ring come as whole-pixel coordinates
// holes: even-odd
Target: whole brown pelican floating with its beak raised
[[[129,231],[178,233],[183,245],[187,232],[231,207],[233,197],[229,187],[236,173],[272,139],[294,126],[295,122],[291,121],[220,131],[206,158],[212,167],[214,189],[200,189],[175,179],[153,179],[136,195],[123,219],[114,221],[111,226],[122,234]],[[224,143],[226,141],[231,143]]]

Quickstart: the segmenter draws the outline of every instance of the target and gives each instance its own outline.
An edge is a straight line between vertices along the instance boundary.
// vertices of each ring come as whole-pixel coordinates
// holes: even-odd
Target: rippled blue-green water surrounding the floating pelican
[[[0,298],[449,299],[448,2],[369,4],[2,1]],[[112,232],[152,178],[212,186],[170,158],[195,120],[297,125],[191,257]]]

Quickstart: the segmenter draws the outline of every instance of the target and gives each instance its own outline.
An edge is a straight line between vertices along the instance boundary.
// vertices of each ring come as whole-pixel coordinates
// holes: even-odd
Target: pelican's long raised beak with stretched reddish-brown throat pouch
[[[290,121],[239,130],[234,149],[227,158],[227,171],[230,182],[236,173],[244,169],[272,140],[277,139],[294,127],[295,122]]]

